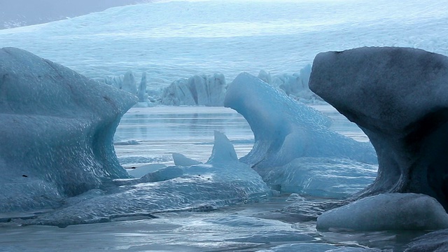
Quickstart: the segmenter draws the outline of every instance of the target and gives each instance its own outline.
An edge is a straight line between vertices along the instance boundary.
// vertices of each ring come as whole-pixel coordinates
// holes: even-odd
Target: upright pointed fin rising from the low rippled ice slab
[[[215,144],[207,162],[238,162],[237,152],[225,134],[215,131]]]

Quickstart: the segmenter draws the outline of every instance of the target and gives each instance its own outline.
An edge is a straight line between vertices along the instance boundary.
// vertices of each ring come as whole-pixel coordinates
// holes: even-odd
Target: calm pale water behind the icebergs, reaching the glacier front
[[[314,105],[333,120],[332,130],[358,141],[365,134],[332,106]],[[241,158],[251,151],[253,133],[233,109],[201,106],[133,108],[123,116],[116,132],[116,153],[124,167],[163,163],[173,165],[172,153],[206,162],[211,155],[214,131],[224,133]],[[127,144],[132,141],[138,144]]]

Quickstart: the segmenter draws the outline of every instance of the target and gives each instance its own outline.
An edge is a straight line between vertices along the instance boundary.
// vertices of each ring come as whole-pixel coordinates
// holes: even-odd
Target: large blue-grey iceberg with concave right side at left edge
[[[134,103],[25,50],[0,50],[0,212],[55,206],[128,177],[113,134]]]

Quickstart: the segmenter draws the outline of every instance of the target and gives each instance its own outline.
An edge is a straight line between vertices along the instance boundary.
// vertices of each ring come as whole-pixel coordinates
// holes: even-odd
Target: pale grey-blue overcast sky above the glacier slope
[[[13,25],[11,21],[35,25],[142,1],[146,0],[0,0],[0,29]]]

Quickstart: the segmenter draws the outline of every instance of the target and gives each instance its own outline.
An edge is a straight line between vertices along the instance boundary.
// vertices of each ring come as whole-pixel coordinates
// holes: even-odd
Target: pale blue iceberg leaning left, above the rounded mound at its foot
[[[279,167],[300,157],[346,158],[375,163],[372,146],[328,130],[330,119],[248,73],[229,85],[224,106],[251,126],[255,144],[241,158],[255,169]]]

